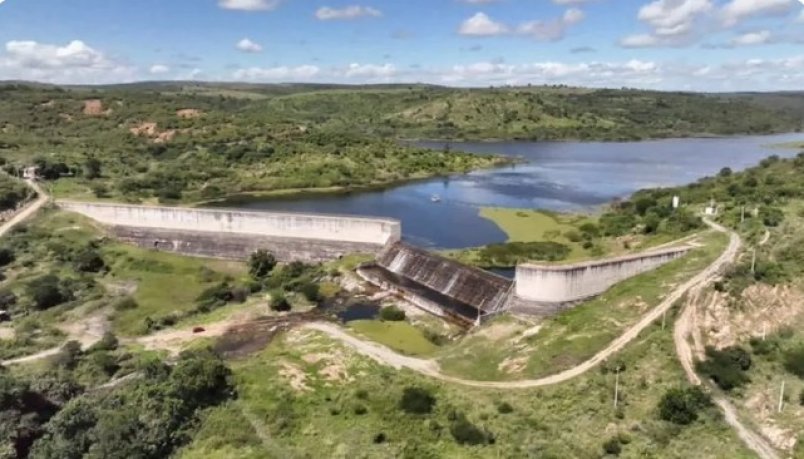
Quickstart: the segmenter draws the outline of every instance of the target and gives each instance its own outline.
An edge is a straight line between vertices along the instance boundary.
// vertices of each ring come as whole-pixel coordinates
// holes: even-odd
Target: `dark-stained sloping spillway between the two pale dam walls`
[[[403,242],[380,253],[374,265],[361,269],[361,275],[381,287],[393,286],[415,296],[414,302],[425,309],[437,304],[441,315],[470,323],[478,313],[502,311],[513,288],[509,279]]]

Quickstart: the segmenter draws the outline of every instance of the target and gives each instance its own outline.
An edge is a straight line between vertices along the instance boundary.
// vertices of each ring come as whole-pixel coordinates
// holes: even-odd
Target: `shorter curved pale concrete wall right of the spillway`
[[[565,266],[524,264],[516,268],[515,294],[541,305],[574,303],[600,295],[612,285],[684,256],[687,247],[669,248]]]

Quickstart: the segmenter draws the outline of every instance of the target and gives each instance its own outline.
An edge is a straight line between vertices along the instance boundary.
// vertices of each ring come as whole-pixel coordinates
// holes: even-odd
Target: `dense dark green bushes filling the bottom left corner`
[[[86,352],[68,343],[42,374],[0,369],[0,453],[4,457],[163,458],[193,436],[199,413],[234,395],[230,370],[213,354],[182,354],[175,365],[138,361],[112,338]],[[91,372],[119,386],[91,390]]]

